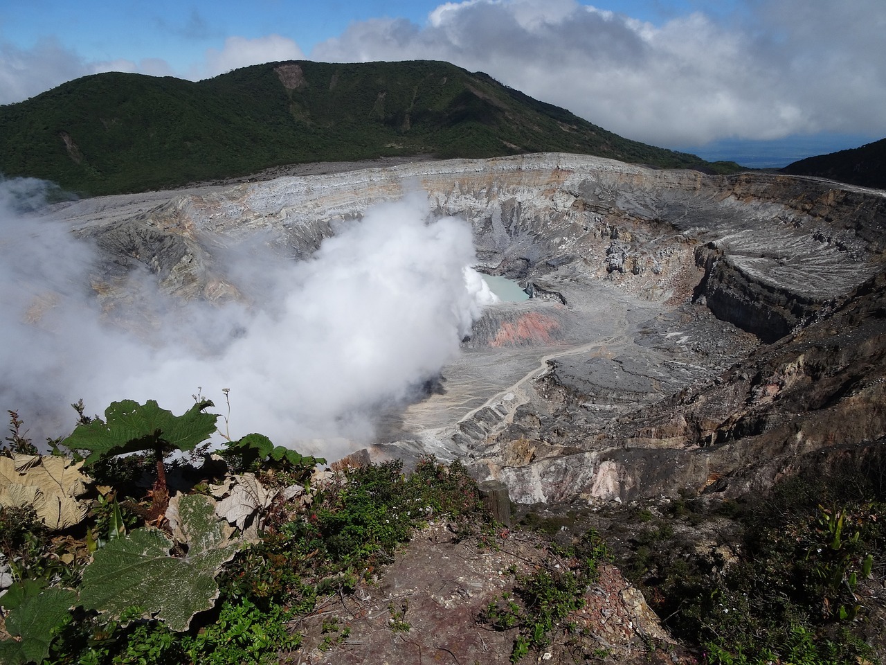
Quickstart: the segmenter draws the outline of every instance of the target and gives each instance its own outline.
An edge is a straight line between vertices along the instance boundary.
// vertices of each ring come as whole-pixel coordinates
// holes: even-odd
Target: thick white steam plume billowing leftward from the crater
[[[181,413],[203,387],[224,413],[229,387],[231,436],[260,432],[335,457],[458,354],[490,301],[464,270],[476,261],[470,226],[426,221],[427,201],[412,194],[369,209],[307,261],[242,252],[230,273],[260,294],[249,307],[166,301],[152,331],[123,332],[89,287],[89,243],[49,215],[22,214],[44,187],[0,182],[0,408],[19,411],[32,434],[68,434],[67,404],[81,397],[89,414],[120,399]],[[136,305],[166,300],[141,279]],[[348,443],[330,450],[333,439]]]

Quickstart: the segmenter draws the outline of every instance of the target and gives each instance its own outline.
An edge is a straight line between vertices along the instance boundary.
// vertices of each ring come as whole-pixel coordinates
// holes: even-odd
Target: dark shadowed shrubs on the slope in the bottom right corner
[[[687,494],[620,529],[622,571],[710,663],[859,665],[886,649],[882,459],[740,501]]]

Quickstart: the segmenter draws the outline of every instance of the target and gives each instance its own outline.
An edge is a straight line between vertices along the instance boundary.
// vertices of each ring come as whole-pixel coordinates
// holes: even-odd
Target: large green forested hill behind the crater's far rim
[[[586,153],[729,171],[445,62],[269,63],[189,82],[106,73],[0,106],[0,173],[139,192],[314,161]]]

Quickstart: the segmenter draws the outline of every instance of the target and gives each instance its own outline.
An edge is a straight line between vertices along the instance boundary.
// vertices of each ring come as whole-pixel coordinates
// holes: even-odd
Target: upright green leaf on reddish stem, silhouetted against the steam
[[[154,400],[139,404],[133,400],[113,402],[105,410],[105,420],[94,419],[78,425],[63,443],[70,450],[89,450],[86,464],[100,458],[139,450],[193,450],[215,431],[213,406],[209,400],[194,404],[181,416],[160,409]]]

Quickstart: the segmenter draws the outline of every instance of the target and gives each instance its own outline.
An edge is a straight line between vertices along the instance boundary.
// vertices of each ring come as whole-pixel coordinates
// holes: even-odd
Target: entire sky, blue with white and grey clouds
[[[0,103],[78,76],[443,59],[622,136],[782,166],[886,137],[883,0],[0,0]]]

